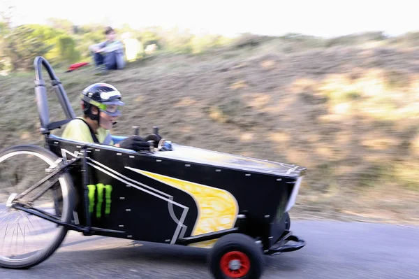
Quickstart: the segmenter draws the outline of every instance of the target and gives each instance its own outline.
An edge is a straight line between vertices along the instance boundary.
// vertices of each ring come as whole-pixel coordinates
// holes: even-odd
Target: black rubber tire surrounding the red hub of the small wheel
[[[249,257],[249,272],[241,278],[258,279],[262,276],[265,270],[265,255],[263,254],[262,247],[250,236],[244,234],[228,234],[219,238],[207,257],[207,265],[214,278],[232,278],[226,276],[220,267],[221,257],[231,251],[243,252]]]

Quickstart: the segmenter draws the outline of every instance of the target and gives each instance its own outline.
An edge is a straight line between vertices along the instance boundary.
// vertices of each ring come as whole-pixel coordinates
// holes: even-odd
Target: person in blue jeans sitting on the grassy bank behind
[[[117,35],[112,27],[106,27],[105,36],[106,41],[89,46],[97,69],[102,72],[124,69],[124,44],[116,39]]]

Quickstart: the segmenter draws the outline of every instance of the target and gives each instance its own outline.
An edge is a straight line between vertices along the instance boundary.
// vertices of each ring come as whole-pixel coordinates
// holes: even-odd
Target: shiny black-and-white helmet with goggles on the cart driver
[[[121,101],[121,93],[108,83],[94,83],[84,88],[82,95],[84,114],[92,120],[99,120],[99,115],[91,114],[91,106],[111,116],[121,115],[120,107],[125,103]]]

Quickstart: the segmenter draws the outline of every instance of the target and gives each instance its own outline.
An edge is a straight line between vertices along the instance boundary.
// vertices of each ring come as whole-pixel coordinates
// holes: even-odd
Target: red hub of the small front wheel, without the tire
[[[249,273],[250,259],[243,252],[228,252],[221,257],[220,267],[226,276],[240,278]]]

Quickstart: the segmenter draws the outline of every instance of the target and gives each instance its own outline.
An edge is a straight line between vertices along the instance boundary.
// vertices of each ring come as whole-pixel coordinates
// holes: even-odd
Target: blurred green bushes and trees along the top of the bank
[[[67,67],[75,62],[90,61],[88,47],[103,41],[105,26],[87,24],[76,26],[68,20],[50,18],[47,24],[24,24],[12,27],[8,11],[0,13],[0,71],[17,72],[31,70],[33,57],[42,55],[54,67]],[[165,30],[160,27],[133,29],[128,25],[117,29],[119,36],[129,32],[142,48],[138,59],[146,56],[147,45],[156,45],[157,53],[199,55],[205,52],[232,47],[252,52],[251,48],[263,45],[269,52],[295,53],[304,50],[328,49],[339,46],[379,45],[390,47],[416,47],[419,32],[388,37],[381,31],[351,34],[337,38],[321,38],[304,34],[284,36],[256,36],[242,34],[239,38],[227,38],[217,34],[195,35],[179,29]],[[226,58],[231,52],[224,52]],[[390,78],[391,86],[398,83]]]

